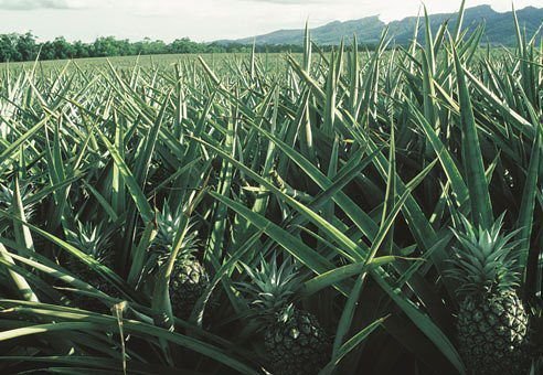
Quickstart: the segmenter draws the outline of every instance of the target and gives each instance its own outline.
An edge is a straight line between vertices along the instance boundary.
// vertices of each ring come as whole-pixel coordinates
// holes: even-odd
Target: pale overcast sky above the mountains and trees
[[[0,0],[0,33],[32,31],[40,40],[64,35],[170,42],[236,39],[278,29],[300,29],[334,20],[380,14],[383,21],[416,15],[419,0]],[[468,0],[509,11],[511,0]],[[460,0],[426,0],[429,13],[453,12]],[[543,0],[514,0],[517,9],[543,7]]]

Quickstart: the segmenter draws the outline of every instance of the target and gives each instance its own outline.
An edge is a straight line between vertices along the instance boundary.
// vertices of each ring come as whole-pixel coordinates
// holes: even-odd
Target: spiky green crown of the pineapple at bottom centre
[[[243,267],[252,282],[241,282],[239,287],[252,299],[252,304],[260,315],[279,318],[281,312],[291,310],[288,306],[301,283],[296,266],[289,259],[278,266],[277,256],[274,255],[270,261],[263,258],[257,269],[245,264]]]

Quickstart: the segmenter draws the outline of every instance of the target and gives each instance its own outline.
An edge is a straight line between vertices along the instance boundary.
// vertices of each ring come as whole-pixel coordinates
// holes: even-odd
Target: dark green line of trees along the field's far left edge
[[[155,54],[183,53],[238,53],[248,52],[252,45],[198,43],[188,38],[177,39],[171,43],[145,39],[131,42],[114,36],[100,36],[94,42],[68,42],[63,36],[53,41],[38,42],[38,38],[24,34],[0,34],[0,62],[22,62],[40,60],[65,60],[82,57],[108,57]],[[301,52],[299,45],[256,46],[257,52]]]

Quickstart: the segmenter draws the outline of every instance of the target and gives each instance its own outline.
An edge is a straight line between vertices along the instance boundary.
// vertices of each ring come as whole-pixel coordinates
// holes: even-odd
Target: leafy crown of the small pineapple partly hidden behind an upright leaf
[[[173,242],[175,240],[175,235],[181,225],[181,217],[183,215],[183,207],[180,206],[174,212],[170,208],[168,202],[164,202],[162,206],[162,211],[157,213],[157,225],[158,233],[155,238],[155,244],[152,249],[161,257],[167,257],[171,253],[173,248]],[[196,231],[191,231],[194,226],[194,223],[189,224],[188,234],[183,238],[183,243],[181,244],[181,251],[179,256],[181,258],[190,258],[194,254],[198,248],[196,243]]]

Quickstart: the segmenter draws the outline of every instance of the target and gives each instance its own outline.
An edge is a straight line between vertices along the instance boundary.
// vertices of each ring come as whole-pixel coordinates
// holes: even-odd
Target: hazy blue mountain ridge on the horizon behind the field
[[[526,7],[517,11],[520,26],[533,35],[543,22],[543,8]],[[401,21],[393,21],[388,24],[379,19],[377,15],[366,17],[352,21],[333,21],[319,28],[311,29],[311,39],[313,42],[326,44],[339,44],[341,39],[350,39],[356,35],[361,44],[375,44],[379,42],[384,28],[387,25],[390,35],[396,43],[406,44],[413,39],[413,32],[416,25],[416,17],[408,17]],[[437,32],[439,25],[448,22],[449,30],[454,30],[457,21],[457,13],[439,13],[429,15],[433,32]],[[424,20],[423,20],[424,22]],[[500,13],[494,11],[490,6],[479,6],[466,9],[464,15],[464,28],[472,31],[481,22],[485,23],[485,36],[482,43],[493,45],[512,45],[517,39],[517,32],[512,12]],[[419,33],[419,39],[424,39],[424,33]],[[543,32],[540,29],[540,35]],[[277,45],[277,44],[302,44],[304,30],[278,30],[268,34],[244,38],[231,41],[217,41],[220,44],[256,44]]]

